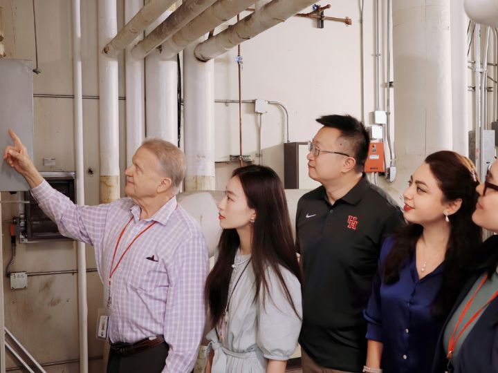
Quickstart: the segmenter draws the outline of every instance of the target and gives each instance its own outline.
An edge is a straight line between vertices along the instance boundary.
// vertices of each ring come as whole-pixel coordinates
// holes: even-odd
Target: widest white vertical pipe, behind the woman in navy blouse
[[[393,10],[395,146],[401,193],[425,156],[452,149],[450,0],[397,0]]]

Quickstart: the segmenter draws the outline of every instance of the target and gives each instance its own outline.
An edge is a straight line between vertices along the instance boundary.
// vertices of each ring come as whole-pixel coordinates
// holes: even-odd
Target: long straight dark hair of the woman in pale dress
[[[252,225],[251,256],[255,274],[254,301],[258,300],[262,289],[262,302],[265,304],[266,295],[269,294],[266,274],[268,269],[272,269],[279,278],[288,302],[298,314],[279,267],[282,265],[301,281],[282,181],[273,169],[256,165],[236,169],[232,178],[239,178],[248,206],[256,210],[256,220]],[[223,315],[228,301],[232,264],[239,245],[237,230],[223,229],[218,245],[218,259],[205,285],[205,298],[208,300],[214,325]]]

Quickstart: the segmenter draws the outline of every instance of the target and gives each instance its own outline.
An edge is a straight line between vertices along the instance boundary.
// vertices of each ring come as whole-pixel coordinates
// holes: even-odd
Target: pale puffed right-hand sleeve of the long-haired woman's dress
[[[265,358],[288,360],[295,352],[302,324],[301,284],[291,271],[280,267],[295,309],[288,302],[282,283],[273,269],[266,272],[269,293],[263,301],[259,296],[257,305],[257,345]]]

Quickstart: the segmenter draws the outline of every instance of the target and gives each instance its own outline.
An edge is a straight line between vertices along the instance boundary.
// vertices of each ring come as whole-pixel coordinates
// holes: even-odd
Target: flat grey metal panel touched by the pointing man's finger
[[[0,153],[12,144],[12,128],[33,159],[33,62],[0,59]],[[0,191],[27,191],[28,183],[1,160]]]

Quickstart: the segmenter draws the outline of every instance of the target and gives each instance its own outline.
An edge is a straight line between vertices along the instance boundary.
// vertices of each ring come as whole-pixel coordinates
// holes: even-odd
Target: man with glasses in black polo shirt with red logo
[[[362,315],[385,236],[404,224],[387,193],[363,173],[365,126],[327,115],[308,144],[308,173],[321,187],[297,204],[296,243],[304,271],[304,373],[361,372],[367,354]]]

